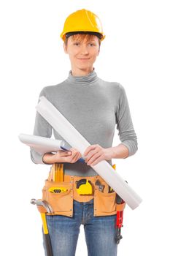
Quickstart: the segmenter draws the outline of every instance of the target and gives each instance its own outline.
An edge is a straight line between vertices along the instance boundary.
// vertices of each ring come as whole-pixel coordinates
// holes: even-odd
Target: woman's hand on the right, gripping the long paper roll
[[[87,165],[96,165],[101,160],[112,159],[112,148],[102,148],[98,144],[90,145],[86,148],[84,157]]]

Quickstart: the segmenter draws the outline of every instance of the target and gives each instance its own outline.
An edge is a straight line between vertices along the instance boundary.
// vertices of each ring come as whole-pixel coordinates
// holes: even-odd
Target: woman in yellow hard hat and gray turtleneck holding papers
[[[137,140],[123,86],[101,80],[93,67],[104,37],[101,22],[93,12],[78,10],[69,15],[61,33],[64,51],[71,62],[69,77],[56,86],[45,87],[40,94],[61,111],[91,146],[83,156],[76,148],[44,155],[31,150],[31,159],[39,164],[63,163],[67,181],[84,178],[95,188],[92,195],[81,196],[74,189],[71,215],[47,216],[53,256],[75,255],[81,224],[84,225],[89,256],[117,255],[115,192],[109,190],[106,182],[93,170],[93,165],[103,159],[112,164],[112,159],[135,154]],[[116,124],[121,143],[112,147]],[[34,135],[50,138],[52,130],[50,124],[36,113]],[[53,132],[56,139],[63,140],[55,130]],[[81,157],[85,162],[78,161]],[[103,184],[100,192],[95,178]],[[46,249],[45,253],[47,255]]]

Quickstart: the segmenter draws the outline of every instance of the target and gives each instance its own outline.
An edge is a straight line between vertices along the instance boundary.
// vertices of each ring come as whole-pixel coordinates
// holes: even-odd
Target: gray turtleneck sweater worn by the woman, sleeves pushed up
[[[121,143],[128,148],[129,156],[137,150],[137,139],[131,121],[125,89],[120,83],[106,82],[98,78],[95,70],[90,74],[69,77],[55,86],[42,89],[44,95],[88,142],[103,148],[112,147],[115,125]],[[58,124],[60,125],[60,124]],[[45,119],[36,113],[34,135],[64,140]],[[65,141],[65,140],[64,140]],[[31,149],[31,159],[36,164],[42,162],[42,154]],[[110,164],[112,161],[108,161]],[[66,174],[73,176],[95,176],[96,171],[83,162],[64,163]]]

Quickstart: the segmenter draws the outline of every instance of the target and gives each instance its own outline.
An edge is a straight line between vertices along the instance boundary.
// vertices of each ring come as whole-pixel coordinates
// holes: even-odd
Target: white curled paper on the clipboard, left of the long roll
[[[45,154],[48,152],[57,152],[58,150],[69,150],[68,145],[63,140],[55,140],[36,135],[26,135],[21,133],[18,138],[27,146],[33,148],[36,152]]]

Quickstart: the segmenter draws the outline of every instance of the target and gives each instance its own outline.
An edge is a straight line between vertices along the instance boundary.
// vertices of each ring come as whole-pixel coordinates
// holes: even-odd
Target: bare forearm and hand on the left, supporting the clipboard
[[[43,162],[53,164],[55,162],[77,162],[82,157],[81,153],[75,148],[70,148],[68,151],[58,150],[55,154],[46,153],[43,156]]]

